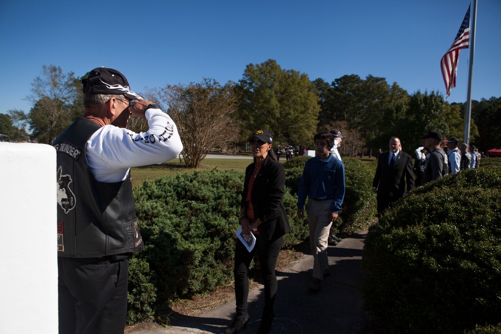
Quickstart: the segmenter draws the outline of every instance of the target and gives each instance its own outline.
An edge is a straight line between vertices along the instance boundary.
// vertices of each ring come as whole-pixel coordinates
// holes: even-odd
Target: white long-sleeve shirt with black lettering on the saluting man
[[[105,125],[89,138],[86,158],[97,181],[120,182],[131,167],[161,164],[181,153],[181,138],[170,116],[160,109],[148,109],[145,116],[146,132]]]

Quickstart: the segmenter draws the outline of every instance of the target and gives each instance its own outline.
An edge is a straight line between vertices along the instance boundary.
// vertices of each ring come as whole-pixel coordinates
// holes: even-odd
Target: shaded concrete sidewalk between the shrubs
[[[312,276],[313,256],[306,255],[291,267],[277,272],[279,280],[272,334],[369,334],[369,316],[362,308],[360,260],[367,231],[329,246],[331,274],[318,292],[307,284]],[[263,285],[249,291],[250,321],[240,333],[256,333],[263,310]],[[168,327],[133,331],[137,334],[223,333],[235,311],[234,297],[227,304],[197,316],[179,316]]]

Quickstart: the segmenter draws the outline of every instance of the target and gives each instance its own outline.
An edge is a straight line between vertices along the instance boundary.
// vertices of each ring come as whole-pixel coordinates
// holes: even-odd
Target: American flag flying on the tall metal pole
[[[447,97],[450,95],[450,90],[456,87],[456,70],[457,61],[459,59],[459,51],[461,51],[461,49],[468,49],[469,46],[469,10],[470,7],[468,7],[468,11],[464,16],[463,23],[457,32],[452,46],[449,50],[447,50],[440,61],[443,82],[445,83],[445,89],[447,90]]]

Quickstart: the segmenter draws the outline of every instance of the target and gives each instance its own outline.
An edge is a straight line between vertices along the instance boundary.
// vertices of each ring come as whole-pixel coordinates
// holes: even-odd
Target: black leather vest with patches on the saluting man
[[[96,181],[85,145],[100,126],[79,117],[53,143],[57,151],[58,255],[100,257],[139,251],[130,172],[121,182]]]

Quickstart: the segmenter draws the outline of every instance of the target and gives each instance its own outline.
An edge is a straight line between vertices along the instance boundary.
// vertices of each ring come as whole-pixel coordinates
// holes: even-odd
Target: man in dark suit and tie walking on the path
[[[383,152],[379,156],[376,175],[372,181],[372,191],[377,193],[378,218],[391,203],[404,196],[405,181],[407,193],[414,188],[411,156],[402,152],[398,137],[391,137],[389,148],[388,152]]]

